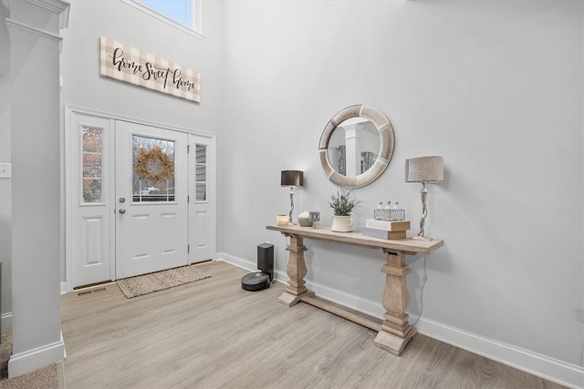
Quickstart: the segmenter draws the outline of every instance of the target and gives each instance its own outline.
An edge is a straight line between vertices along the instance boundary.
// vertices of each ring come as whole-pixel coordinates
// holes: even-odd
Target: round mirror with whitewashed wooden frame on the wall
[[[318,152],[328,179],[347,188],[369,185],[393,154],[393,128],[378,109],[346,107],[328,121]]]

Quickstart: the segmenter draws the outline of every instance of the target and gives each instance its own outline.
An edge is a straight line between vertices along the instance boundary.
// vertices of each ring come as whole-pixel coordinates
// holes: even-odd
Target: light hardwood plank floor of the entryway
[[[212,277],[134,299],[64,295],[67,388],[561,387],[422,334],[386,353],[359,324],[278,303],[281,284],[246,292],[248,271],[199,266]]]

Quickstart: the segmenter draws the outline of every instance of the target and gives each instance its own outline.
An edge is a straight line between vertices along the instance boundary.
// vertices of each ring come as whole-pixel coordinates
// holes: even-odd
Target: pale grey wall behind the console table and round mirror
[[[420,186],[403,181],[404,160],[445,161],[429,189],[426,233],[445,244],[428,258],[421,332],[476,335],[581,374],[582,20],[579,1],[225,2],[220,251],[255,261],[272,241],[285,271],[286,241],[265,230],[287,212],[280,170],[305,171],[297,211],[329,225],[321,131],[343,107],[377,107],[396,144],[381,178],[354,191],[360,226],[381,200],[416,226]],[[305,244],[310,282],[379,304],[380,252]],[[409,258],[412,315],[422,262]]]

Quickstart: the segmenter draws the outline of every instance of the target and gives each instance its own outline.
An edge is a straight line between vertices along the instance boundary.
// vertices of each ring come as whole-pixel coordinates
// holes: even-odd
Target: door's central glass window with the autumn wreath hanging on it
[[[174,140],[132,136],[132,199],[174,201]]]

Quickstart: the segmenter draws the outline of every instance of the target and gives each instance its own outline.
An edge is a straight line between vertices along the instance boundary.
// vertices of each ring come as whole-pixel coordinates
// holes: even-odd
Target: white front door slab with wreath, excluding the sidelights
[[[188,264],[187,134],[116,121],[116,276]]]

